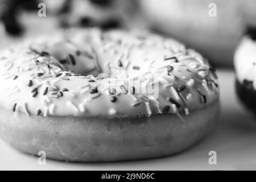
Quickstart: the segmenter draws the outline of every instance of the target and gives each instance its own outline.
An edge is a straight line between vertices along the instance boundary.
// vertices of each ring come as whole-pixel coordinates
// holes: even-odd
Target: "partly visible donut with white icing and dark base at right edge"
[[[250,28],[243,37],[234,55],[236,68],[236,92],[245,106],[256,113],[256,27]]]

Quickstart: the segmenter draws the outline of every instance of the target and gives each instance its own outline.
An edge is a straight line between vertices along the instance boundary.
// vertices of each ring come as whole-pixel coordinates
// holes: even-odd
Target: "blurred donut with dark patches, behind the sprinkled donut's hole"
[[[65,1],[60,11],[63,27],[93,27],[102,29],[138,27],[139,11],[134,0],[72,0]],[[135,25],[136,24],[136,25]]]

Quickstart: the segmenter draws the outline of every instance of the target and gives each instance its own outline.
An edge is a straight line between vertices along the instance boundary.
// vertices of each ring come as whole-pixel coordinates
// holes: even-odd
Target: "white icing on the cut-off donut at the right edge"
[[[253,81],[256,88],[256,42],[245,36],[234,55],[234,67],[238,81]]]

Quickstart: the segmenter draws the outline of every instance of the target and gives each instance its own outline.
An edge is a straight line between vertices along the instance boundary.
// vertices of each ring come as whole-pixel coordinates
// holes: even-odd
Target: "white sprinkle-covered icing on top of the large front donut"
[[[8,49],[0,64],[0,106],[28,116],[189,114],[218,99],[207,60],[176,40],[148,32],[59,32]],[[113,72],[114,77],[97,77]],[[159,97],[139,92],[154,84]]]

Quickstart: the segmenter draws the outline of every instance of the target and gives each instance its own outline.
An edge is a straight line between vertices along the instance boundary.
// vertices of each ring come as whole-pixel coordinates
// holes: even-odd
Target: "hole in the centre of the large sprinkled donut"
[[[71,71],[77,75],[93,75],[94,77],[107,78],[110,72],[104,64],[97,63],[97,55],[92,47],[76,47],[70,42],[53,43],[47,47],[34,47],[42,56],[52,56],[57,65],[65,71]]]

